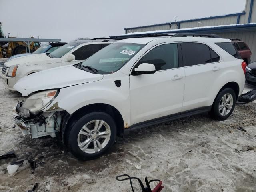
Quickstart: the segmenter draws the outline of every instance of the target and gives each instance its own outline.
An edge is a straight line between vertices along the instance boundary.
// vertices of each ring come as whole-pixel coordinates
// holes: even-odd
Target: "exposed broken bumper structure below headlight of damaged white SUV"
[[[62,119],[60,112],[40,112],[32,115],[22,108],[22,104],[23,102],[17,103],[14,122],[24,136],[29,135],[32,139],[44,136],[56,137]]]

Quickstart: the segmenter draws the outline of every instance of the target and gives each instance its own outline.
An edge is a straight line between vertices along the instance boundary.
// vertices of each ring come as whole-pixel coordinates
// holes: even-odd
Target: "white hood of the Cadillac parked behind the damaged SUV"
[[[24,57],[18,57],[11,59],[7,62],[4,63],[5,66],[10,67],[12,65],[30,65],[30,64],[35,64],[35,62],[40,62],[40,61],[46,61],[46,60],[53,60],[53,58],[48,57],[45,53],[41,54],[30,54]]]

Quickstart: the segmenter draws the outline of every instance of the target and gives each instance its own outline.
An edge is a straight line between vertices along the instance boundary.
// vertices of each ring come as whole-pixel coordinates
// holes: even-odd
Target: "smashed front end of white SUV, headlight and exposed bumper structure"
[[[26,101],[18,102],[14,122],[23,135],[30,138],[43,136],[56,137],[60,131],[62,114],[65,112],[53,106],[44,111],[58,95],[58,90],[47,90],[32,94]]]

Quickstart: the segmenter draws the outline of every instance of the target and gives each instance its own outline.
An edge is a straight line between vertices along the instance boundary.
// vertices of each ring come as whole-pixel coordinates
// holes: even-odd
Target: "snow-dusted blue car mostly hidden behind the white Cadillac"
[[[27,56],[30,54],[40,54],[40,53],[51,53],[54,50],[60,48],[61,46],[65,45],[67,43],[61,42],[61,43],[48,43],[48,44],[43,44],[41,45],[41,47],[37,50],[35,50],[33,53],[23,53],[23,54],[18,54],[18,55],[14,55],[8,58],[7,61],[14,59],[14,58],[18,58],[18,57],[23,57],[23,56]]]

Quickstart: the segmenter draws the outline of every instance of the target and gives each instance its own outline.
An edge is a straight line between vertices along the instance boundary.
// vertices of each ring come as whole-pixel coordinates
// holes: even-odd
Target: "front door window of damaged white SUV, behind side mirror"
[[[153,48],[136,64],[153,64],[156,71],[179,67],[178,45],[176,43],[160,45]]]

